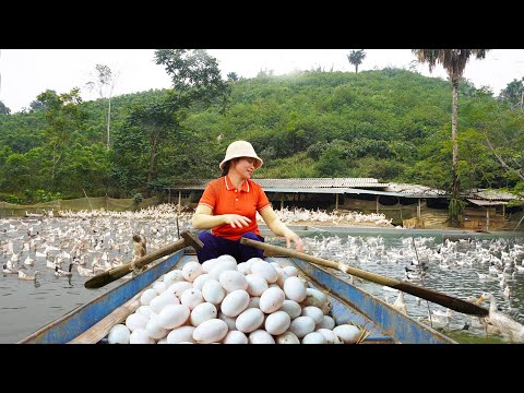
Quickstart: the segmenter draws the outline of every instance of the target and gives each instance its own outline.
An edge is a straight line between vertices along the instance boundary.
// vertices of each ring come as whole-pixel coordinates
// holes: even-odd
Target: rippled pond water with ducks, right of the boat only
[[[478,298],[484,291],[492,293],[499,310],[524,324],[524,272],[517,272],[515,269],[515,273],[505,278],[505,285],[511,290],[509,298],[504,295],[505,285],[500,285],[501,278],[497,277],[496,273],[491,273],[497,277],[492,281],[479,279],[477,274],[488,274],[491,263],[501,258],[508,260],[510,255],[522,265],[524,259],[522,235],[469,234],[468,239],[464,240],[456,236],[442,236],[442,233],[437,233],[437,236],[424,236],[424,231],[414,235],[403,233],[395,235],[392,231],[379,234],[380,231],[373,236],[367,233],[361,236],[347,231],[326,231],[305,238],[305,243],[310,254],[343,261],[353,267],[398,281],[406,279],[405,266],[414,269],[412,263],[422,262],[428,267],[426,274],[421,279],[410,281],[413,284],[462,299]],[[439,249],[441,252],[437,253],[436,250]],[[345,279],[348,277],[342,272],[335,272],[335,275]],[[376,283],[358,279],[354,283],[390,303],[397,297],[391,288],[388,290],[388,287]],[[445,321],[443,323],[438,321],[438,317],[432,318],[430,322],[429,312],[444,312],[445,308],[409,294],[404,294],[404,300],[409,317],[432,325],[458,342],[503,342],[501,337],[487,336],[486,329],[478,318],[455,312],[449,324]],[[483,306],[488,308],[489,303],[485,302]]]

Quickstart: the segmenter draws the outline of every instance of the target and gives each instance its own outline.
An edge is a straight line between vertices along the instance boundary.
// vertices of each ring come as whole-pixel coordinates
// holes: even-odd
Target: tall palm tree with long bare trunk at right
[[[412,52],[418,57],[418,61],[429,64],[429,72],[433,71],[437,63],[448,72],[453,86],[451,105],[451,140],[453,142],[453,163],[452,163],[452,186],[450,201],[450,221],[451,225],[458,226],[462,222],[464,212],[464,202],[458,200],[458,145],[456,142],[456,124],[458,119],[458,81],[464,73],[466,63],[472,56],[477,59],[484,59],[489,49],[412,49]]]

